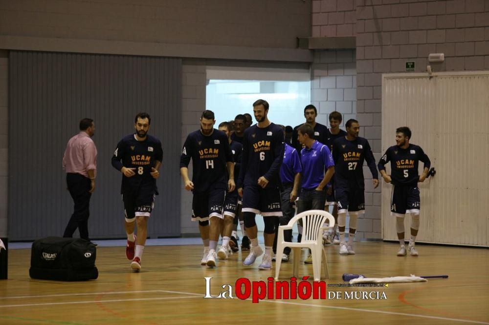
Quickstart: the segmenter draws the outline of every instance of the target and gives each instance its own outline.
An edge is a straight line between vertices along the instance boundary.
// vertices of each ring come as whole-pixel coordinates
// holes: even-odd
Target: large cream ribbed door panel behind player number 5
[[[382,152],[395,144],[397,127],[409,126],[411,143],[424,149],[437,170],[435,178],[419,184],[417,239],[488,245],[489,73],[384,75],[382,99]],[[397,240],[391,187],[382,184],[384,240]],[[406,217],[406,239],[410,223]]]

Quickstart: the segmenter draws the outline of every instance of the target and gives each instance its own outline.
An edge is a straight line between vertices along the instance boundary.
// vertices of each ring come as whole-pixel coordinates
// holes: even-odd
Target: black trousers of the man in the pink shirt
[[[67,173],[66,183],[69,194],[73,199],[74,211],[66,226],[63,237],[73,237],[73,233],[78,228],[80,238],[89,240],[90,179],[80,174]]]

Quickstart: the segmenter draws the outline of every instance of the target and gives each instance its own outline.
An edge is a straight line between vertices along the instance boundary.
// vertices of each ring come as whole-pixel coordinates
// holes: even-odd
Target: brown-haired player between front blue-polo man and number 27
[[[333,150],[333,142],[334,140],[345,137],[346,131],[339,128],[341,121],[343,118],[339,112],[333,111],[330,113],[330,128],[329,128],[329,138],[328,145],[330,146],[330,150]],[[326,195],[326,204],[324,206],[325,211],[330,211],[330,206],[333,205],[332,215],[334,217],[334,227],[331,230],[331,233],[325,237],[326,242],[339,244],[339,236],[336,232],[336,227],[338,226],[338,204],[336,204],[336,199],[334,197],[334,178],[331,180],[330,185],[327,188]]]

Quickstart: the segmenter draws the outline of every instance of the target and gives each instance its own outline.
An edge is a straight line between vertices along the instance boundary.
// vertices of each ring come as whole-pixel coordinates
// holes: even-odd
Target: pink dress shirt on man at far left
[[[97,147],[87,132],[80,131],[69,139],[63,156],[63,169],[67,173],[78,173],[89,177],[88,171],[97,171]]]

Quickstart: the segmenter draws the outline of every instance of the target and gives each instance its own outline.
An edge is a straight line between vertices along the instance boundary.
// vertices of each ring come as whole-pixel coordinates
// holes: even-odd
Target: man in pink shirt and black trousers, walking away
[[[80,133],[69,139],[63,156],[68,191],[74,202],[74,211],[63,237],[73,237],[76,228],[80,238],[89,240],[89,204],[95,190],[97,148],[91,137],[95,134],[92,119],[80,121]]]

